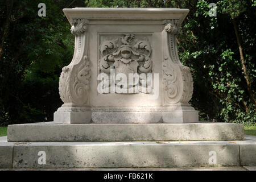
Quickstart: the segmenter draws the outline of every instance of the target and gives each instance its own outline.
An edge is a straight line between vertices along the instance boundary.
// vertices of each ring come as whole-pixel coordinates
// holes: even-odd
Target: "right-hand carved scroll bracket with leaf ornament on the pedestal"
[[[166,20],[164,42],[166,54],[163,61],[164,101],[166,104],[188,103],[193,93],[193,81],[188,67],[180,63],[177,54],[176,34],[179,33],[176,19]],[[168,57],[170,59],[168,59]],[[181,78],[177,78],[179,75]]]

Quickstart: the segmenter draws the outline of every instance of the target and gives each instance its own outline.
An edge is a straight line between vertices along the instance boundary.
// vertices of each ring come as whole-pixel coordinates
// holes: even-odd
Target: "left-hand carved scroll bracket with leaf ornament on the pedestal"
[[[86,20],[73,19],[75,53],[71,63],[62,69],[59,81],[60,98],[64,105],[84,106],[88,102],[90,63],[86,56]]]

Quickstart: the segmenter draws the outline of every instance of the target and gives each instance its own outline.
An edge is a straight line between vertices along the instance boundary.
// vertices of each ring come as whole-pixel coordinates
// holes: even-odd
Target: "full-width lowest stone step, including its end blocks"
[[[256,137],[243,141],[7,142],[0,168],[255,166]],[[44,164],[45,159],[45,164]]]

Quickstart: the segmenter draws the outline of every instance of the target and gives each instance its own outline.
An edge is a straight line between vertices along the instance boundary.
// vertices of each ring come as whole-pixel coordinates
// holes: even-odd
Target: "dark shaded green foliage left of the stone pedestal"
[[[61,105],[61,68],[73,56],[73,36],[62,9],[69,1],[0,1],[0,123],[52,120]],[[79,6],[84,5],[80,2]]]

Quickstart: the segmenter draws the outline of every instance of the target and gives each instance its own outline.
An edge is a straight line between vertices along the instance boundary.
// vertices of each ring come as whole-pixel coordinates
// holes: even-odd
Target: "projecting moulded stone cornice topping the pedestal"
[[[165,20],[178,19],[182,23],[188,9],[176,8],[84,8],[63,9],[69,23],[72,19],[88,20]]]

